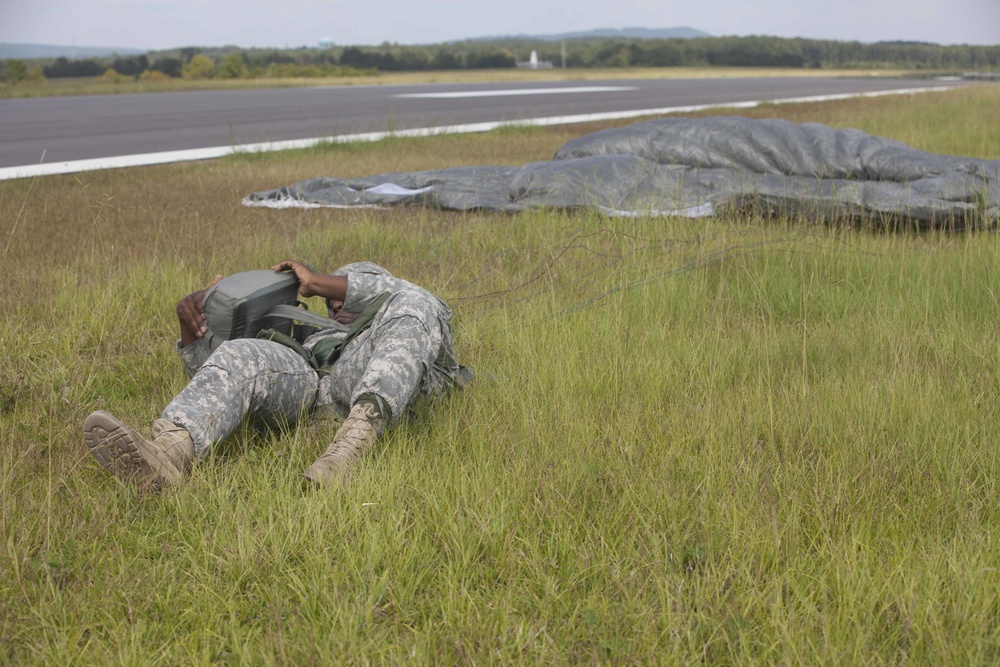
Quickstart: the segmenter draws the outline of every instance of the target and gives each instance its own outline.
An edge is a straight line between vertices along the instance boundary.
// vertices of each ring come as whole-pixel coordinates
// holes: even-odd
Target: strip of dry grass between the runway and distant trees
[[[51,79],[38,84],[0,83],[0,99],[56,97],[62,95],[121,95],[179,90],[243,90],[248,88],[297,88],[301,86],[395,86],[420,83],[482,83],[511,81],[602,81],[607,79],[693,79],[747,77],[901,76],[902,70],[806,70],[757,67],[630,67],[628,69],[551,70],[451,70],[440,72],[382,72],[375,76],[342,76],[326,79],[208,79],[136,81],[130,77],[114,83],[99,78]]]

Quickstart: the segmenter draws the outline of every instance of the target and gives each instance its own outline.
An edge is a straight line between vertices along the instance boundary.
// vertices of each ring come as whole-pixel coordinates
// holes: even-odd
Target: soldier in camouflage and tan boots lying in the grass
[[[230,340],[210,351],[207,290],[189,294],[177,304],[177,350],[190,383],[153,422],[152,439],[107,412],[87,417],[84,442],[102,466],[143,490],[159,491],[180,481],[193,461],[245,417],[292,424],[303,415],[349,409],[326,452],[305,471],[307,479],[323,484],[346,478],[352,463],[416,396],[439,397],[471,379],[471,371],[455,360],[451,309],[427,290],[370,262],[348,264],[331,275],[293,260],[273,270],[293,272],[299,294],[326,299],[329,317],[342,324],[351,324],[383,294],[388,298],[324,374],[292,347],[271,340]],[[344,335],[321,330],[303,347],[312,350],[323,339]]]

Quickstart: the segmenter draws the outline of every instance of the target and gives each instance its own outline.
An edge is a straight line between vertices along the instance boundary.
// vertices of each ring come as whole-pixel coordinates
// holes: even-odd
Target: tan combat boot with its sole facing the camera
[[[98,410],[83,422],[83,441],[98,463],[141,491],[158,493],[177,484],[194,461],[191,436],[166,419],[153,422],[153,439],[148,440]]]

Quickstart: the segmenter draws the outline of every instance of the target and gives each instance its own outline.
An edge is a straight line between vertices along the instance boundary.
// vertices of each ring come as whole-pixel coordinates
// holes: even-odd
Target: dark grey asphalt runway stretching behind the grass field
[[[623,79],[0,100],[0,167],[486,121],[870,93],[916,85],[877,78]]]

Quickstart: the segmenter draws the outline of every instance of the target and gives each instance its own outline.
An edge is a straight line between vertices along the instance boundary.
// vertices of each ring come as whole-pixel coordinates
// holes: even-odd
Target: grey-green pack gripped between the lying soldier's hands
[[[294,273],[244,271],[227,276],[205,293],[205,326],[209,347],[224,341],[255,338],[262,329],[304,339],[318,328],[346,330],[334,320],[299,307],[299,281]],[[293,326],[293,321],[312,326]]]

